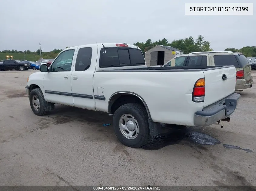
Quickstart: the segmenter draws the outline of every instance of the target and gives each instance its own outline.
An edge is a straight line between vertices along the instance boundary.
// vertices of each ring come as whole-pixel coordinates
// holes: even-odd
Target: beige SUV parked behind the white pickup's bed
[[[251,88],[253,79],[251,66],[242,53],[232,51],[195,52],[174,57],[175,66],[228,66],[236,67],[236,87],[238,91]],[[163,66],[171,66],[171,60]]]

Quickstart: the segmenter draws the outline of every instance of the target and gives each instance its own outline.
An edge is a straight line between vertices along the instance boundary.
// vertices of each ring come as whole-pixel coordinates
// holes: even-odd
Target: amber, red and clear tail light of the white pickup
[[[192,100],[194,102],[204,102],[205,95],[205,81],[204,78],[200,78],[196,81],[192,93]]]

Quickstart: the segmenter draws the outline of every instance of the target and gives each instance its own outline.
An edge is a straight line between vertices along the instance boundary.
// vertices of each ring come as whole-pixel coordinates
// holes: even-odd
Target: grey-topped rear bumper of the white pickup
[[[204,107],[194,114],[195,126],[209,126],[230,116],[238,104],[240,94],[233,93],[216,103]]]

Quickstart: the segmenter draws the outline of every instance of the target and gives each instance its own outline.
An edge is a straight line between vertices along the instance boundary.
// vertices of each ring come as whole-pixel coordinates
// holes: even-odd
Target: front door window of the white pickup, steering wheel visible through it
[[[74,49],[66,50],[62,52],[52,63],[50,72],[71,71],[74,52],[75,52]]]

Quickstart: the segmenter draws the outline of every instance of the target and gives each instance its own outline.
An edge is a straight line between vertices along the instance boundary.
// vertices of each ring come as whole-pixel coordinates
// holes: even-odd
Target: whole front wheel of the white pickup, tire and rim
[[[45,111],[45,107],[44,107],[45,98],[44,98],[44,95],[43,95],[43,92],[41,91],[41,89],[36,88],[30,92],[29,102],[30,102],[30,107],[31,107],[32,111],[36,115],[42,116],[47,113],[47,111]]]

